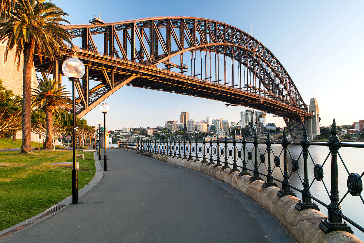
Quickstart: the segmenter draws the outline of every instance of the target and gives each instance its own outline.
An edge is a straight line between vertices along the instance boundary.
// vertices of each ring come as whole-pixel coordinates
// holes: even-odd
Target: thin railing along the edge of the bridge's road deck
[[[120,62],[127,62],[127,63],[133,64],[133,65],[136,65],[136,66],[140,66],[140,67],[148,67],[148,68],[151,68],[151,69],[154,69],[154,70],[165,72],[167,74],[176,75],[178,77],[183,77],[183,78],[191,79],[191,80],[194,80],[194,81],[209,83],[211,85],[220,86],[220,87],[228,88],[228,89],[231,89],[231,90],[237,90],[237,91],[242,92],[242,93],[250,94],[248,91],[245,91],[245,90],[242,90],[242,89],[237,89],[237,88],[232,87],[232,86],[227,86],[227,85],[223,85],[223,84],[220,84],[220,83],[217,83],[217,82],[208,81],[207,79],[200,79],[200,78],[197,78],[197,77],[181,74],[179,72],[164,70],[164,69],[159,68],[159,67],[157,67],[155,65],[151,65],[151,64],[147,64],[147,63],[131,62],[130,60],[127,60],[127,59],[124,59],[124,58],[117,58],[115,56],[110,56],[110,55],[104,54],[102,52],[93,52],[93,51],[83,50],[82,48],[79,48],[78,46],[71,47],[69,44],[65,44],[65,46],[70,51],[83,52],[83,53],[96,55],[96,56],[100,56],[100,57],[103,57],[103,58],[108,58],[108,59],[112,59],[112,60],[116,60],[116,61],[120,61]],[[269,95],[269,98],[267,98],[267,99],[271,99],[271,100],[274,100],[274,101],[278,100],[280,102],[284,102],[284,103],[292,106],[291,105],[292,102],[289,101],[288,99],[285,99],[283,97],[278,97],[277,95],[275,95],[275,94],[273,94],[272,92],[269,92],[269,91],[264,91],[263,93]],[[261,95],[257,95],[257,96],[260,97]],[[266,98],[265,95],[264,95],[264,97]],[[272,99],[270,97],[275,97],[275,99]]]

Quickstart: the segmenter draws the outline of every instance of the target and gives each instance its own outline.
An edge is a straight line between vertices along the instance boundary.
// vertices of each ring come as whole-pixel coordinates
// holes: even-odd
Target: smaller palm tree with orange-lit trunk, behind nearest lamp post
[[[44,141],[44,149],[53,148],[53,113],[58,107],[69,107],[71,99],[68,97],[68,92],[65,86],[59,86],[59,82],[55,79],[43,79],[38,82],[38,88],[33,89],[32,106],[36,106],[46,113],[46,141]]]

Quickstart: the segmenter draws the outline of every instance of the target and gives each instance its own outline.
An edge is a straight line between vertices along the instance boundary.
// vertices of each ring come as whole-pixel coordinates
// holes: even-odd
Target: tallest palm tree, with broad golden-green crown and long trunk
[[[17,0],[10,16],[0,23],[0,41],[7,42],[5,55],[15,47],[15,60],[18,69],[23,54],[23,119],[21,128],[23,142],[21,153],[32,153],[31,147],[31,75],[33,54],[42,62],[42,55],[54,60],[65,48],[64,41],[71,44],[70,33],[62,28],[69,23],[62,16],[67,15],[63,10],[46,0]]]

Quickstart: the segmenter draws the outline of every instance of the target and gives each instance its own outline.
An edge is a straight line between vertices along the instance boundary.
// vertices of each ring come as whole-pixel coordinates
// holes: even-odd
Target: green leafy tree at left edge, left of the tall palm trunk
[[[21,107],[17,104],[19,96],[7,90],[0,79],[0,133],[15,133],[21,125]],[[13,136],[13,140],[14,140]]]

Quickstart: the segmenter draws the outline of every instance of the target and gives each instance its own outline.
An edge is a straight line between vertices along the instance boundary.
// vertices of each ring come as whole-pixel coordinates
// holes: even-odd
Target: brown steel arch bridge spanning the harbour
[[[83,61],[86,73],[76,84],[79,117],[124,85],[279,115],[293,139],[312,117],[276,56],[253,36],[225,23],[166,16],[68,27],[80,46],[69,47],[55,62],[40,63],[35,56],[35,68],[43,77],[53,72],[60,79],[63,60],[75,56]]]

